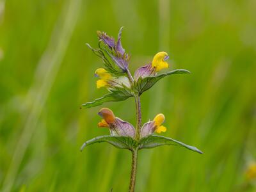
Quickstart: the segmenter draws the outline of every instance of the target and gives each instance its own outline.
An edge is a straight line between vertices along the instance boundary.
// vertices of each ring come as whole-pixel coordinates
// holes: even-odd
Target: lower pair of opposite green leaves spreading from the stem
[[[203,154],[203,152],[196,147],[186,145],[180,141],[173,140],[172,138],[166,138],[164,136],[157,136],[154,134],[151,134],[145,138],[141,138],[140,141],[133,140],[131,137],[127,136],[98,136],[97,138],[86,141],[81,147],[81,151],[84,147],[88,145],[102,142],[109,143],[116,148],[123,148],[128,150],[134,150],[136,148],[138,148],[139,150],[142,148],[154,148],[162,145],[176,145],[179,147],[188,148],[189,150],[193,150],[194,152],[198,152],[199,154]]]

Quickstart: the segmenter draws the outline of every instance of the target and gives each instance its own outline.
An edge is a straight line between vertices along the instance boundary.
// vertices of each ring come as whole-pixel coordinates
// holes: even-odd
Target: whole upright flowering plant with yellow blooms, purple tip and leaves
[[[98,136],[86,141],[81,150],[88,145],[100,142],[106,142],[117,148],[130,150],[132,152],[132,167],[129,191],[132,192],[135,187],[139,150],[159,147],[161,145],[177,145],[202,154],[196,147],[186,145],[172,138],[157,135],[161,132],[166,132],[166,127],[162,125],[164,122],[164,115],[162,113],[156,115],[154,120],[150,120],[143,125],[141,124],[140,95],[163,77],[173,74],[190,74],[190,72],[185,69],[176,69],[158,74],[164,68],[169,67],[166,62],[169,58],[168,54],[166,52],[158,52],[152,59],[152,62],[138,68],[134,72],[134,76],[132,76],[129,71],[130,56],[125,52],[121,43],[122,28],[118,33],[117,41],[104,32],[97,31],[97,34],[99,36],[99,47],[94,49],[89,44],[87,45],[104,63],[104,67],[95,70],[95,76],[99,78],[96,82],[97,88],[106,88],[109,93],[99,99],[95,99],[93,102],[86,102],[81,108],[92,108],[100,106],[105,102],[117,102],[134,97],[136,127],[116,117],[111,109],[102,108],[98,113],[102,118],[98,127],[107,127],[110,135]],[[155,132],[157,134],[154,134]]]

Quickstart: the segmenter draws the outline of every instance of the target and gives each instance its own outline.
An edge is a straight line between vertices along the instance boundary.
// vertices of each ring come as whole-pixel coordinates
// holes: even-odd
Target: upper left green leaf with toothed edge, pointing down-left
[[[101,106],[105,102],[122,101],[128,99],[129,97],[132,97],[129,88],[125,88],[125,86],[123,86],[122,88],[116,87],[115,89],[111,90],[111,93],[108,93],[103,97],[100,97],[99,99],[95,99],[92,102],[86,102],[85,104],[82,104],[81,108],[92,108],[95,106]]]

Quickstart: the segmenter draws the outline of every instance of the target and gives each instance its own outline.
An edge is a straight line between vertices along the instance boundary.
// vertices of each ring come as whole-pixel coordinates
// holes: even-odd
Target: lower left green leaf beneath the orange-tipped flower
[[[102,142],[109,143],[109,144],[115,146],[116,148],[124,148],[124,149],[129,149],[129,150],[132,150],[134,143],[136,143],[136,141],[134,141],[132,138],[127,137],[127,136],[104,135],[104,136],[98,136],[96,138],[93,138],[92,140],[86,141],[82,145],[80,150],[82,151],[83,148],[88,145],[92,145],[94,143],[102,143]]]

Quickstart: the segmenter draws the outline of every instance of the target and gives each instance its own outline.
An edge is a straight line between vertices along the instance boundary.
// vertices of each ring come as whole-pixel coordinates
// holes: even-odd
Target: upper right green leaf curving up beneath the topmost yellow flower
[[[157,83],[157,81],[159,81],[163,77],[170,76],[173,74],[190,74],[190,72],[189,70],[186,70],[186,69],[176,69],[164,74],[160,74],[158,76],[150,76],[150,77],[144,77],[144,78],[140,77],[136,82],[134,89],[141,95],[141,93],[147,91],[149,88],[151,88],[155,83]]]

